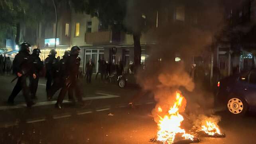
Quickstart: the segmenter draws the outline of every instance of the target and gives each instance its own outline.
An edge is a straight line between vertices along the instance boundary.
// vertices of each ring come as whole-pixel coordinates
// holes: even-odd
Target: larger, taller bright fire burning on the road
[[[183,98],[180,93],[176,92],[176,101],[173,107],[169,109],[168,115],[165,115],[163,118],[158,116],[160,120],[158,123],[159,131],[157,133],[157,140],[167,144],[173,144],[177,133],[182,133],[185,139],[193,140],[193,135],[186,134],[185,130],[180,128],[181,122],[184,120],[182,115],[179,114],[179,108],[181,107]],[[162,112],[161,107],[158,107],[158,111]]]

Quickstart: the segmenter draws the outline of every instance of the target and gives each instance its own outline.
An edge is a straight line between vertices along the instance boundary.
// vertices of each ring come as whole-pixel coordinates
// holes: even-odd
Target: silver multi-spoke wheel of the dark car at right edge
[[[247,103],[240,97],[230,97],[227,102],[227,108],[233,115],[244,115],[247,110]]]

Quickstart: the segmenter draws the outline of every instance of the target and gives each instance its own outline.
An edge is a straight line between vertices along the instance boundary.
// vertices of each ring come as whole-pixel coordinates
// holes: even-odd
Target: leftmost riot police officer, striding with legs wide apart
[[[19,53],[15,56],[13,61],[13,71],[17,74],[18,81],[8,98],[9,104],[14,104],[14,98],[22,90],[27,106],[31,107],[34,103],[29,96],[29,88],[27,86],[27,79],[32,76],[34,79],[36,75],[31,69],[32,63],[28,60],[30,57],[30,44],[22,43]]]

